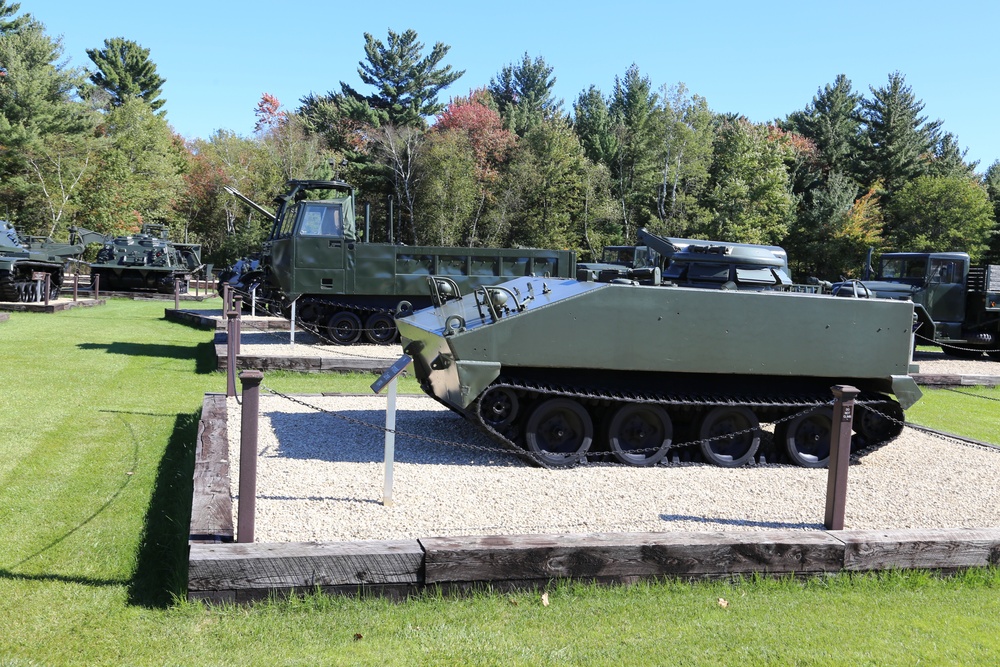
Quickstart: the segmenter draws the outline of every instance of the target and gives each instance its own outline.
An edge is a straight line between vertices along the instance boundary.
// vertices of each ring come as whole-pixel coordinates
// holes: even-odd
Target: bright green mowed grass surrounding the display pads
[[[112,300],[0,323],[0,666],[908,665],[1000,655],[996,569],[553,584],[547,605],[538,592],[184,602],[198,413],[225,377],[213,371],[212,332],[163,320],[171,306]],[[367,392],[373,379],[273,373],[265,384]],[[996,442],[988,399],[997,390],[976,393],[926,392],[908,418]]]

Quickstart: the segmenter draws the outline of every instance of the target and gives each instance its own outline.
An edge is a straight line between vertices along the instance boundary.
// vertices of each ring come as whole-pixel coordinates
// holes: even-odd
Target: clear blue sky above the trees
[[[566,109],[590,85],[607,94],[632,63],[654,88],[683,82],[714,111],[754,121],[804,108],[838,74],[869,95],[899,71],[980,172],[1000,159],[995,2],[21,0],[21,12],[62,37],[74,66],[91,66],[86,50],[110,37],[150,49],[167,120],[188,138],[251,135],[265,92],[289,109],[340,81],[369,92],[357,74],[364,33],[385,41],[412,28],[427,50],[450,45],[444,62],[466,70],[444,98],[527,52],[554,68]]]

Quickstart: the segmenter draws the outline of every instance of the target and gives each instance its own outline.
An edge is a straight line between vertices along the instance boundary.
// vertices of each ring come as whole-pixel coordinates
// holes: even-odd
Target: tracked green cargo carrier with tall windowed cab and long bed
[[[239,274],[237,288],[271,301],[286,317],[294,303],[297,320],[343,345],[362,336],[393,342],[397,311],[431,305],[429,278],[447,278],[444,289],[468,293],[519,276],[576,273],[576,255],[566,250],[372,243],[368,229],[357,228],[354,187],[344,181],[288,181],[273,213],[226,190],[272,223],[259,267]]]

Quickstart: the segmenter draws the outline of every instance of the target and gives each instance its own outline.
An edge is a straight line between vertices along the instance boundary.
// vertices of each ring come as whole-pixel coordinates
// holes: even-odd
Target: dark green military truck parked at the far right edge
[[[1000,359],[1000,265],[972,266],[964,252],[893,252],[870,277],[834,285],[834,294],[912,301],[915,339],[946,354]]]

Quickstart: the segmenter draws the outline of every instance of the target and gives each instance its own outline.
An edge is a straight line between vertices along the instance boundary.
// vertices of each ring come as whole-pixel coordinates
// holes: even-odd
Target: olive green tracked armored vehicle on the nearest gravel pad
[[[552,467],[825,466],[834,385],[861,390],[855,446],[899,433],[912,322],[902,301],[537,278],[397,319],[426,393]]]

